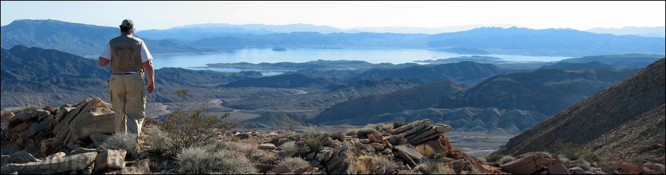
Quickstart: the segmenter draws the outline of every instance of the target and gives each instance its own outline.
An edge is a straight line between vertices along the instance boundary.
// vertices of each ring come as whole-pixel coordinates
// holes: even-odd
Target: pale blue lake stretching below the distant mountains
[[[309,62],[317,59],[325,60],[361,60],[371,63],[390,62],[393,64],[414,62],[425,59],[446,59],[450,57],[472,56],[423,49],[321,49],[321,48],[287,48],[287,51],[276,52],[271,48],[245,48],[235,52],[224,52],[208,55],[155,55],[156,69],[163,67],[182,67],[186,69],[206,69],[213,71],[242,71],[240,69],[203,68],[210,63],[236,62]],[[554,62],[570,57],[540,57],[522,55],[483,55],[498,57],[514,62]],[[257,70],[260,71],[260,70]],[[275,74],[265,72],[264,75]]]

